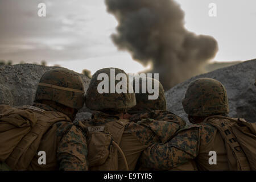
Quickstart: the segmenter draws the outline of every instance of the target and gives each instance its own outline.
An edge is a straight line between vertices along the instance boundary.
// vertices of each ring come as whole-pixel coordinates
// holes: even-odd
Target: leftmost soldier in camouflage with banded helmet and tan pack
[[[8,126],[10,117],[14,121],[32,123],[27,127],[28,133],[24,133],[20,142],[10,149],[10,154],[1,155],[2,162],[13,170],[88,169],[85,135],[72,123],[83,105],[84,86],[77,73],[68,69],[51,69],[44,73],[32,106],[0,106],[1,129],[7,126],[7,131],[11,131]],[[16,127],[13,131],[20,131],[20,128]],[[5,145],[10,141],[6,139],[8,136],[3,138],[2,135],[5,136],[5,132],[0,133],[0,148],[11,146],[13,143]],[[26,143],[28,149],[20,149],[26,148]],[[46,164],[39,164],[39,151],[46,152]],[[4,154],[1,149],[0,154]]]

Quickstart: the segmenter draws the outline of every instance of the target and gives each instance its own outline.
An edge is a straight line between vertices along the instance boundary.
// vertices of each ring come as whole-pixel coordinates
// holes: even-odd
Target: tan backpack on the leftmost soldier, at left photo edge
[[[0,105],[0,111],[0,162],[13,170],[28,168],[49,127],[58,121],[71,122],[63,113],[34,106]]]

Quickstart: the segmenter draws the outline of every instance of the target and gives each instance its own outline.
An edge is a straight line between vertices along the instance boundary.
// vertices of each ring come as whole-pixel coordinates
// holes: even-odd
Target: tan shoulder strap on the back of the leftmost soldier
[[[60,112],[45,111],[37,107],[31,110],[36,111],[38,121],[35,126],[32,127],[31,131],[20,140],[13,152],[11,152],[9,158],[6,159],[5,162],[12,169],[26,170],[38,150],[40,140],[49,127],[58,121],[70,121],[67,115]]]

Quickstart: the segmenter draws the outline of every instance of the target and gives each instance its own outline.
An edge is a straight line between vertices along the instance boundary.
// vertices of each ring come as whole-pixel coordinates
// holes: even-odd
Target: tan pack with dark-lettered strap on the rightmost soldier
[[[217,127],[225,141],[229,167],[232,170],[256,170],[256,123],[221,115],[204,122]]]

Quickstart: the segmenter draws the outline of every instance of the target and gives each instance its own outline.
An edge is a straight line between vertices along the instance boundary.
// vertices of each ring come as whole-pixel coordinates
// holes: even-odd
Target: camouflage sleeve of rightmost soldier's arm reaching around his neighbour
[[[142,154],[140,163],[143,168],[168,170],[188,159],[195,159],[199,153],[200,134],[198,127],[180,131],[167,143],[154,144]]]

